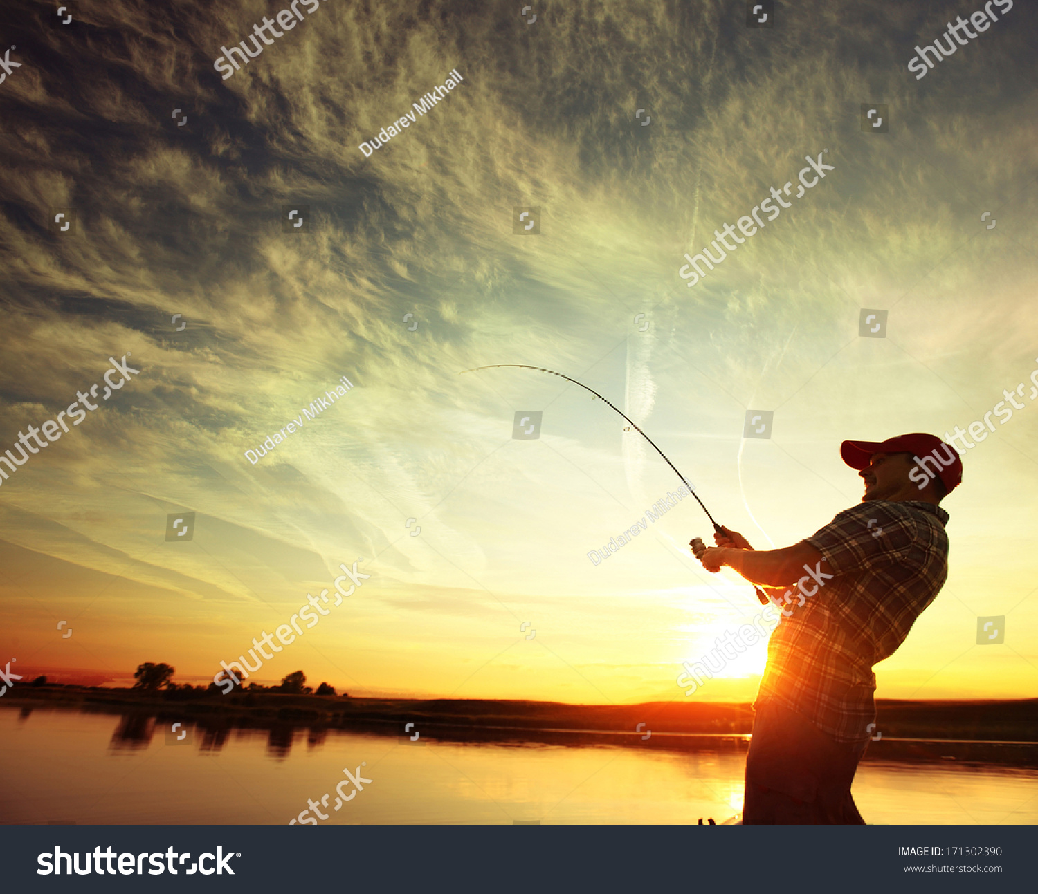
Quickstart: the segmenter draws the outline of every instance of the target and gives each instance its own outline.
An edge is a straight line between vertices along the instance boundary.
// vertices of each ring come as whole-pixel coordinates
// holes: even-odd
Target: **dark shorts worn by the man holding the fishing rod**
[[[754,718],[744,826],[864,826],[850,786],[869,739],[843,744],[772,702]]]

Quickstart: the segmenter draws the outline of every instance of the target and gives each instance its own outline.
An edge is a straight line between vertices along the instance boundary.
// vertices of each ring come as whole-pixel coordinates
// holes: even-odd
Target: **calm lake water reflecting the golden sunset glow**
[[[187,731],[167,744],[146,719],[0,709],[0,821],[288,823],[325,794],[322,825],[694,823],[742,809],[740,751]],[[332,810],[357,766],[371,784]],[[866,760],[854,799],[870,823],[1035,823],[1038,770]]]

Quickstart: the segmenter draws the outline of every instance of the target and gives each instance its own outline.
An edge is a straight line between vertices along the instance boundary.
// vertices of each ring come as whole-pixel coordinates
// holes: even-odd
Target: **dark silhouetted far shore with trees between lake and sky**
[[[144,690],[37,683],[20,686],[4,704],[19,707],[24,716],[38,708],[121,715],[114,748],[146,747],[156,732],[180,721],[194,728],[202,750],[219,750],[235,729],[256,729],[268,730],[271,750],[280,753],[291,748],[298,729],[308,730],[310,747],[331,730],[398,736],[409,744],[413,733],[405,734],[408,723],[414,724],[419,741],[744,750],[753,726],[749,704],[377,699],[257,687],[224,696],[215,687]],[[880,699],[877,707],[880,738],[870,743],[868,759],[1038,766],[1038,699]],[[650,737],[644,738],[647,732]]]

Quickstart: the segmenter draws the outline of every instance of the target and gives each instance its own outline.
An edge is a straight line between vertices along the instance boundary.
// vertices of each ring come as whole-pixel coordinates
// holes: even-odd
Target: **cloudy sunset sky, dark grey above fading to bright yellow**
[[[252,679],[684,700],[681,663],[760,609],[692,559],[706,515],[686,498],[646,519],[681,481],[585,391],[459,373],[599,391],[759,549],[861,500],[842,440],[966,428],[1038,380],[1033,8],[917,79],[913,48],[972,9],[780,4],[768,29],[732,2],[530,22],[322,0],[221,78],[222,48],[281,8],[0,11],[20,63],[0,83],[0,449],[100,394],[109,358],[139,370],[0,480],[13,671],[204,681],[356,561],[370,577]],[[828,168],[796,198],[808,157]],[[684,253],[787,181],[790,207],[689,286]],[[1035,692],[1038,406],[1019,399],[963,456],[948,581],[877,665],[880,698]],[[770,437],[743,437],[747,411]],[[513,438],[531,412],[539,437]],[[190,539],[167,540],[185,513]],[[1004,643],[978,644],[978,618]],[[765,656],[694,699],[750,700]]]

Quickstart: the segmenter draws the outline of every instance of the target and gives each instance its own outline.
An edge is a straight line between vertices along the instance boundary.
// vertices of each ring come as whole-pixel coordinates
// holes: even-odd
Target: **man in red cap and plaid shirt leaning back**
[[[948,576],[948,512],[937,504],[962,480],[957,451],[913,434],[844,441],[840,455],[861,470],[862,503],[805,540],[755,551],[726,532],[694,548],[708,571],[729,565],[785,590],[754,703],[747,826],[865,822],[850,786],[875,730],[872,666],[904,642]]]

